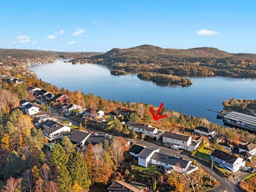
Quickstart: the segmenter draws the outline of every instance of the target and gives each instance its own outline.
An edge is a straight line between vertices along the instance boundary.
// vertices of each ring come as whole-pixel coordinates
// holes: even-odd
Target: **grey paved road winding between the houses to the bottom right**
[[[93,131],[93,129],[88,129],[88,131]],[[98,134],[106,134],[106,133],[100,132],[100,131],[93,131],[93,132],[94,133],[97,132]],[[163,152],[165,154],[176,155],[177,157],[182,156],[183,159],[196,160],[196,159],[193,159],[192,157],[190,157],[189,153],[184,151],[184,150],[175,150],[175,149],[172,149],[172,148],[166,148],[166,147],[158,146],[154,143],[150,143],[150,142],[145,141],[145,140],[132,140],[132,139],[129,139],[129,140],[131,140],[133,144],[145,145],[147,147],[152,146],[152,147],[161,148],[160,152]],[[207,166],[206,163],[201,163],[201,162],[198,162],[198,163],[202,166],[202,168],[204,168],[205,172],[207,172],[209,174],[211,173],[211,168],[209,168],[209,166]],[[237,173],[235,175],[237,175]],[[225,190],[227,192],[240,192],[241,191],[238,188],[237,184],[238,184],[238,180],[239,179],[241,180],[240,177],[243,177],[243,176],[237,177],[238,180],[237,180],[236,176],[234,178],[236,180],[234,180],[233,178],[232,179],[226,179],[225,177],[222,177],[221,175],[219,175],[216,172],[213,172],[212,176],[215,179],[217,179],[221,182],[221,186],[218,187],[218,188],[215,188],[215,189],[210,189],[209,191],[211,191],[211,192],[220,192],[220,191],[225,191]]]

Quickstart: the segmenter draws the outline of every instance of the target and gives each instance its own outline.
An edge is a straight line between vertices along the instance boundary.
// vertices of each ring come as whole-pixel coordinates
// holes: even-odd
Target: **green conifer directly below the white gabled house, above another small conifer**
[[[52,148],[51,166],[65,166],[67,164],[67,155],[64,148],[59,144],[54,144]]]

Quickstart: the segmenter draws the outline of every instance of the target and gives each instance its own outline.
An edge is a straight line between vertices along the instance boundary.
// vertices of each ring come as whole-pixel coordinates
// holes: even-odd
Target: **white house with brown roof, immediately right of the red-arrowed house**
[[[178,145],[188,151],[192,151],[200,145],[200,141],[192,140],[191,136],[174,132],[164,132],[163,143]]]

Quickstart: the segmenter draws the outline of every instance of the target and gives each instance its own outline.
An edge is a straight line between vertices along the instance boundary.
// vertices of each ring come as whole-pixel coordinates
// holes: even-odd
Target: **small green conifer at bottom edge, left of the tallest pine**
[[[69,192],[70,191],[70,187],[72,184],[72,180],[70,177],[70,174],[67,170],[66,166],[61,166],[59,175],[58,175],[58,179],[57,179],[57,184],[58,184],[58,188],[60,189],[60,191],[63,192]]]

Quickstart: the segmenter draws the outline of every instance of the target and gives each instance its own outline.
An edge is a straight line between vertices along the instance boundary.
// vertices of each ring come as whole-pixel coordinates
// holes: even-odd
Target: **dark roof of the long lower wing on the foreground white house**
[[[151,159],[172,165],[179,163],[180,167],[183,169],[185,169],[189,164],[189,161],[186,159],[180,159],[179,157],[169,156],[167,154],[162,154],[159,152],[155,152]]]

